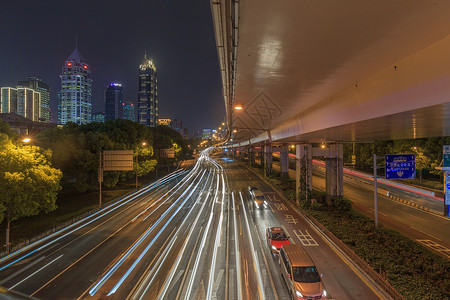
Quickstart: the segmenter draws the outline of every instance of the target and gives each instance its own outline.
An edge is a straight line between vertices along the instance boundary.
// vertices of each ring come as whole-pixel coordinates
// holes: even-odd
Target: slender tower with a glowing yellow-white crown
[[[158,80],[151,59],[139,65],[138,122],[147,126],[158,125]]]

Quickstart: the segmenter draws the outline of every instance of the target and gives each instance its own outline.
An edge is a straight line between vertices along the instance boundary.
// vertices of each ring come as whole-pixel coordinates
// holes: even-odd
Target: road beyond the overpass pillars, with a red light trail
[[[290,157],[291,166],[295,160]],[[280,163],[274,162],[274,169]],[[289,170],[295,178],[295,170]],[[313,163],[313,187],[325,191],[325,168],[321,161]],[[378,182],[378,220],[386,227],[395,229],[428,249],[450,258],[450,218],[443,216],[443,200],[414,188],[404,188],[395,183]],[[389,191],[390,197],[386,195]],[[344,169],[344,196],[352,201],[352,207],[374,218],[373,177]],[[423,209],[425,208],[425,209]]]

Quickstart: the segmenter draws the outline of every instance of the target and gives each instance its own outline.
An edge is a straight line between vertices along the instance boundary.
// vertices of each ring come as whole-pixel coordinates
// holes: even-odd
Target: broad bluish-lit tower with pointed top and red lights
[[[86,124],[92,120],[91,70],[78,48],[66,59],[61,73],[59,123]]]

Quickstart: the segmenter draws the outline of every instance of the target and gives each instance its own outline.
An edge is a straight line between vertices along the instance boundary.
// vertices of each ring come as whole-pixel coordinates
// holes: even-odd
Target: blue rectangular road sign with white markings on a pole
[[[386,179],[416,178],[416,156],[414,154],[385,155]]]

